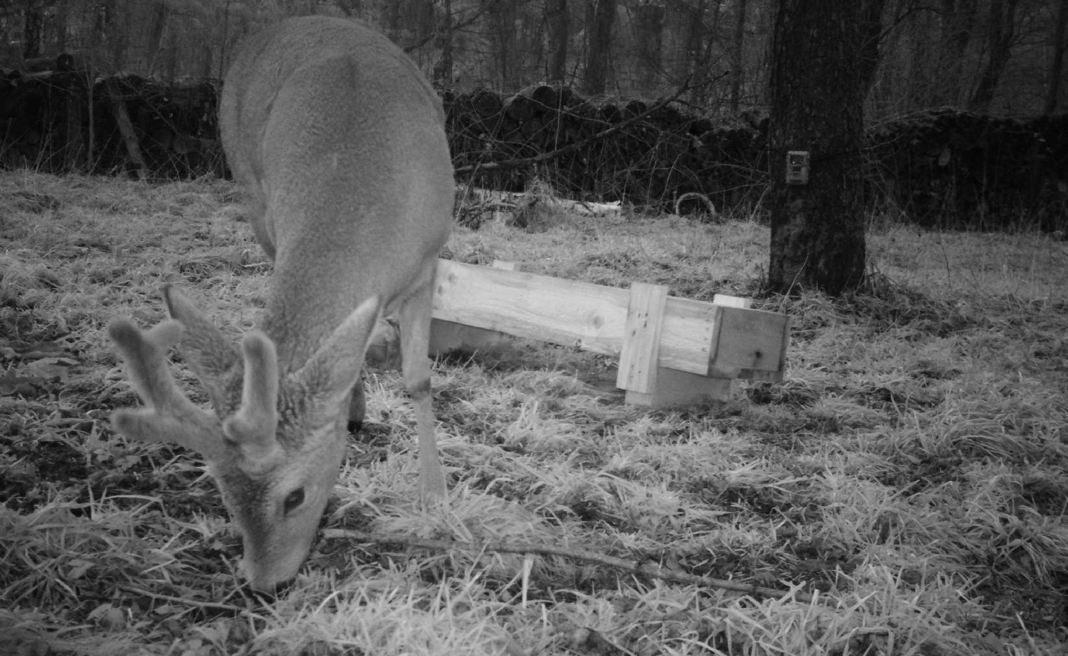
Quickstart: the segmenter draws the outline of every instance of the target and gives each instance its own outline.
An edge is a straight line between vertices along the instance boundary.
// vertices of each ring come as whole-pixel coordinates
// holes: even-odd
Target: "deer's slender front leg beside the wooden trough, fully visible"
[[[419,435],[419,492],[424,503],[446,497],[445,475],[434,436],[430,405],[430,313],[434,278],[418,289],[397,309],[400,324],[400,370],[415,410]]]

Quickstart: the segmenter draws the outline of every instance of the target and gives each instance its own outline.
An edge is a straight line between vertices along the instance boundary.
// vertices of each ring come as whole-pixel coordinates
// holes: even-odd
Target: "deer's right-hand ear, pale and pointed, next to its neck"
[[[360,380],[371,333],[381,316],[381,301],[371,297],[354,309],[296,373],[293,384],[316,396],[347,395]]]

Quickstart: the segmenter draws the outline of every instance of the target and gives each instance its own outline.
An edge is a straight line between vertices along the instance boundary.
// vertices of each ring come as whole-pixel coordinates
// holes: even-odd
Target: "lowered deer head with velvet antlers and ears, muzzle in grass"
[[[173,287],[170,319],[148,331],[115,320],[108,333],[146,407],[112,422],[128,437],[173,442],[198,451],[241,531],[242,570],[252,587],[272,590],[308,556],[345,448],[348,398],[360,378],[379,317],[372,298],[357,307],[297,371],[279,375],[274,343],[253,331],[237,349]],[[215,412],[194,405],[168,370],[177,346]]]

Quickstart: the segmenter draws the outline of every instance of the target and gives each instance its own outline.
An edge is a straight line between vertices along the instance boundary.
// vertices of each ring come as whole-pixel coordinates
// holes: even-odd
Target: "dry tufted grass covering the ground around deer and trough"
[[[397,374],[372,370],[324,538],[263,604],[200,463],[107,421],[137,401],[103,327],[159,320],[161,284],[235,339],[253,325],[269,263],[233,196],[0,174],[0,654],[1064,653],[1063,243],[880,226],[865,293],[757,299],[795,317],[786,380],[719,405],[627,407],[611,362],[543,345],[443,358],[445,516],[414,502],[412,418]],[[556,217],[459,229],[450,250],[708,300],[757,293],[767,241],[754,221]]]

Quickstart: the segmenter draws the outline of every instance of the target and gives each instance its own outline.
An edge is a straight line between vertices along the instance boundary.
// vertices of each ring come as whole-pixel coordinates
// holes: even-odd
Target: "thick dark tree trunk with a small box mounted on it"
[[[780,0],[771,45],[771,261],[781,292],[841,294],[864,277],[861,142],[863,7]],[[811,154],[806,185],[786,183],[789,150]]]

